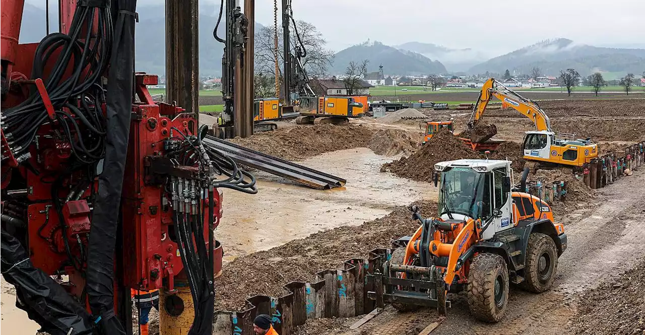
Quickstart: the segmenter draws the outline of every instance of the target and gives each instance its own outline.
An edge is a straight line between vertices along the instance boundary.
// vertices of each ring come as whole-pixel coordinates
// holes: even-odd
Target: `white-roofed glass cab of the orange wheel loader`
[[[481,219],[482,239],[512,228],[510,164],[508,160],[467,159],[437,163],[441,219]]]

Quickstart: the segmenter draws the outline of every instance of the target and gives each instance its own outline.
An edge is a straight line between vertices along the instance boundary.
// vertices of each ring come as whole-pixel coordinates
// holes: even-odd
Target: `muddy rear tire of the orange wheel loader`
[[[558,251],[553,238],[542,233],[531,233],[526,247],[524,282],[526,291],[541,293],[553,285],[558,271]]]

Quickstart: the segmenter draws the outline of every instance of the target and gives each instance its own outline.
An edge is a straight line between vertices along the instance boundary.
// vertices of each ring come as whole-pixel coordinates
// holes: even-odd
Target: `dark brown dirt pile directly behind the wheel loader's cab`
[[[481,158],[481,155],[464,146],[464,143],[450,131],[444,130],[434,135],[410,157],[383,164],[381,172],[392,172],[402,178],[430,182],[435,164],[461,158]]]

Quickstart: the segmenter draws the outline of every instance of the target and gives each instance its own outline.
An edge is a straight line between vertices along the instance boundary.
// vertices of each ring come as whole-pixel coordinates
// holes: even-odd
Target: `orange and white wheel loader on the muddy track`
[[[437,307],[445,316],[448,292],[466,291],[471,314],[497,322],[506,312],[510,283],[526,291],[550,289],[567,247],[551,207],[511,189],[508,160],[453,160],[435,165],[439,216],[422,218],[412,236],[388,254],[370,298],[399,310]],[[525,189],[528,169],[519,189]]]

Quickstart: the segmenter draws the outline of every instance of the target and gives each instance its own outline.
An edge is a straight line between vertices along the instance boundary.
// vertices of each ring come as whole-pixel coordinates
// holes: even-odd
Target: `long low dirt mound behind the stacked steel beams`
[[[286,160],[301,160],[329,151],[367,147],[373,130],[359,125],[294,126],[231,142]]]

